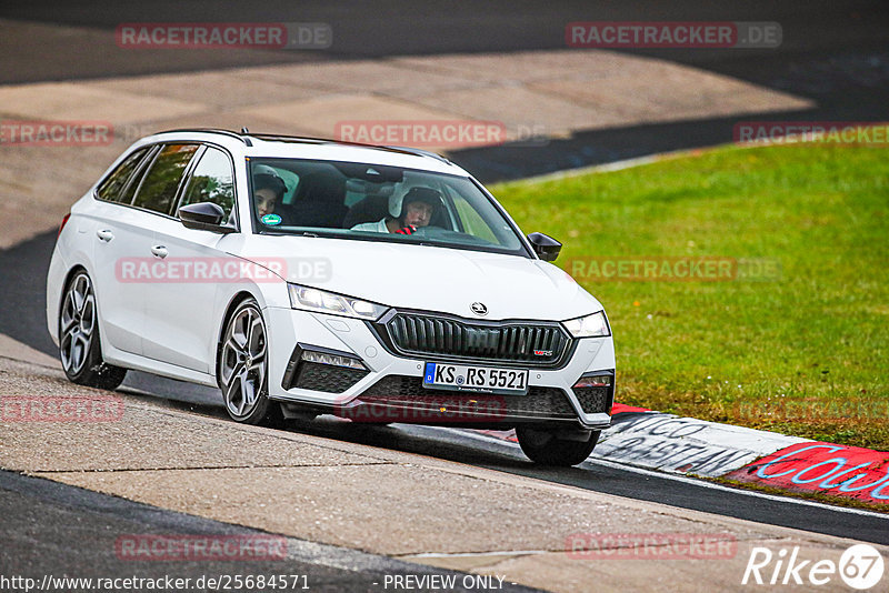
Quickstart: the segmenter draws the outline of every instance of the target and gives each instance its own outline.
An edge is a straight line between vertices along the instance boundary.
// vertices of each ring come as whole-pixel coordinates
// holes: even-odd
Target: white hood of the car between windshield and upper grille
[[[237,255],[283,263],[288,282],[399,309],[563,321],[602,309],[565,271],[517,255],[327,238],[252,235]],[[479,318],[480,319],[480,318]]]

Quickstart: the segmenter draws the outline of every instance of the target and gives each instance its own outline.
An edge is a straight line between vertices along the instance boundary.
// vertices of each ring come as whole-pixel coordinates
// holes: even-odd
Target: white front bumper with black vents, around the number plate
[[[269,396],[357,422],[403,422],[469,428],[518,424],[605,429],[613,403],[613,343],[577,340],[558,369],[530,369],[527,394],[453,392],[422,385],[433,355],[392,354],[360,320],[269,308]],[[300,361],[303,349],[359,359],[367,371]],[[501,366],[490,361],[475,363]],[[324,366],[328,366],[324,369]],[[573,390],[581,375],[610,374],[608,388]]]

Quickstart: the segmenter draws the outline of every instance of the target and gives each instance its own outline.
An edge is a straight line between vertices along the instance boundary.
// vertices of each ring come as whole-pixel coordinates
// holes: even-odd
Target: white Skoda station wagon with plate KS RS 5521
[[[610,423],[615,351],[560,248],[437,154],[176,130],[71,207],[47,321],[76,383],[218,385],[251,424],[515,428],[573,465]]]

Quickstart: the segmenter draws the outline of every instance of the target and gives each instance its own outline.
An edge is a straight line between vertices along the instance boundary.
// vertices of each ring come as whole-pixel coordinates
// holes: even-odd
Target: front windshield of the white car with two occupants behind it
[[[472,180],[378,164],[251,159],[250,208],[263,234],[306,234],[528,255]]]

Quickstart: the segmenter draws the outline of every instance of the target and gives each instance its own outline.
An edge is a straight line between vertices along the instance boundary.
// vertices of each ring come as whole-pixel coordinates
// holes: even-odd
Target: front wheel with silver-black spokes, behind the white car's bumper
[[[232,420],[281,426],[281,405],[269,400],[268,340],[262,312],[253,299],[238,304],[226,321],[217,362],[217,382]]]

